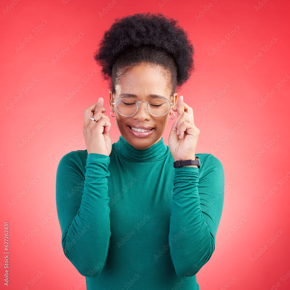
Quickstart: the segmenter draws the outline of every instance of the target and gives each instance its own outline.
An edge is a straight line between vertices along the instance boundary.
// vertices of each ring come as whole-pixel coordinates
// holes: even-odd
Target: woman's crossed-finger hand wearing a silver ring
[[[100,97],[99,103],[86,108],[84,113],[84,138],[88,154],[98,153],[109,156],[112,151],[112,139],[110,136],[110,118],[103,114],[104,99]],[[93,117],[97,122],[90,119]]]

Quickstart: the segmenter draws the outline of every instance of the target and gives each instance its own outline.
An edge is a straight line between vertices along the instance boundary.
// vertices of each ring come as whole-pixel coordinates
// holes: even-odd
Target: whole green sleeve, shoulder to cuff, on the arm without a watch
[[[64,155],[56,175],[57,215],[66,257],[83,276],[97,277],[110,242],[108,164],[110,157],[90,153],[86,172],[79,154]]]

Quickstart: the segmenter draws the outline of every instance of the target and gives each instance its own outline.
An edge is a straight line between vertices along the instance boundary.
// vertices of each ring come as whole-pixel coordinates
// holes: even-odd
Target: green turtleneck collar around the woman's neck
[[[149,148],[139,150],[129,144],[122,135],[112,145],[112,151],[120,158],[131,162],[154,162],[164,159],[170,153],[169,147],[164,144],[164,139]]]

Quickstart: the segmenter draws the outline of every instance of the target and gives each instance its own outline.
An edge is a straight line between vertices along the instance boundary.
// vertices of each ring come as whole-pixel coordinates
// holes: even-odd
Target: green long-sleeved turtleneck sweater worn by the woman
[[[121,135],[110,156],[72,151],[56,175],[62,247],[88,290],[198,290],[224,202],[212,154],[173,167],[164,139],[145,150]],[[181,288],[182,287],[182,288]]]

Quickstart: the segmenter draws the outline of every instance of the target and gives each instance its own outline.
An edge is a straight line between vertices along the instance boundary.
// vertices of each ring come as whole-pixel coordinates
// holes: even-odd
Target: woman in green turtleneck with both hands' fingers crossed
[[[193,71],[193,46],[177,21],[148,12],[117,19],[94,57],[121,135],[112,144],[100,97],[84,112],[87,150],[59,162],[64,253],[88,290],[199,289],[195,275],[215,249],[224,171],[213,155],[195,154],[200,131],[177,98]],[[168,147],[162,134],[174,112]],[[177,160],[189,165],[174,167]]]

